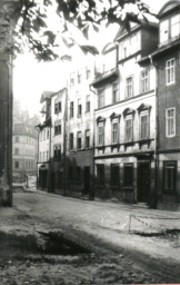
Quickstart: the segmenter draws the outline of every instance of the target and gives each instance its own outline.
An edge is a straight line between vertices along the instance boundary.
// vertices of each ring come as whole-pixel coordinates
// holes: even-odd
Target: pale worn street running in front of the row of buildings
[[[33,228],[82,232],[111,246],[180,263],[179,235],[164,235],[163,238],[153,235],[166,229],[180,230],[179,213],[80,200],[42,191],[16,193],[14,208],[32,218]],[[137,235],[134,230],[149,236]],[[79,235],[79,238],[80,243],[84,242],[84,236]]]

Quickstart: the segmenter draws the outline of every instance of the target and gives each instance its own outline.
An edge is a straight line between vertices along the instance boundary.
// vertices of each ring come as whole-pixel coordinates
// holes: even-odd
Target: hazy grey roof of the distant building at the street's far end
[[[33,138],[38,137],[38,134],[34,127],[26,124],[14,124],[13,135],[28,136]]]

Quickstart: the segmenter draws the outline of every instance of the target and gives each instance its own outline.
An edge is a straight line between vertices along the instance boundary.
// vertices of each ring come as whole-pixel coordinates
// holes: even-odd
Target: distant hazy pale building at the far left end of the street
[[[12,174],[13,181],[24,180],[27,175],[37,174],[38,134],[33,126],[13,125]]]

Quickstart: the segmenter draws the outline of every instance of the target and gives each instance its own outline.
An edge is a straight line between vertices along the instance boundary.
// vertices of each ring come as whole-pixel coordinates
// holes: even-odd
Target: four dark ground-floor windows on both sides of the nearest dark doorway
[[[97,186],[104,187],[104,165],[97,165]],[[163,190],[174,191],[177,178],[177,161],[163,161]],[[120,166],[110,166],[110,184],[120,187]],[[123,164],[123,187],[133,187],[133,164]]]

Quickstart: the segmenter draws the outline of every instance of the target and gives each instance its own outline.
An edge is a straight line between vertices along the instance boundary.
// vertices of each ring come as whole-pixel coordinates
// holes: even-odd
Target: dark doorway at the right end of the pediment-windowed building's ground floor
[[[149,203],[150,198],[150,163],[138,163],[138,202]]]

